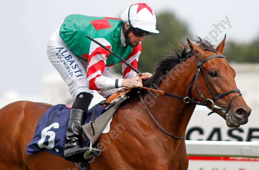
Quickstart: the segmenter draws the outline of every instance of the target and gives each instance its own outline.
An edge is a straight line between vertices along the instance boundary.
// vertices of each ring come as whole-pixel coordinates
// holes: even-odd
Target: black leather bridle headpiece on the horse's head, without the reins
[[[192,81],[191,81],[191,83],[190,83],[190,85],[189,85],[189,87],[188,87],[188,89],[187,89],[186,96],[187,96],[187,93],[189,92],[189,89],[191,88],[192,83],[195,81],[194,88],[196,89],[196,91],[197,91],[197,93],[199,94],[199,96],[204,100],[206,106],[207,106],[207,102],[208,102],[208,101],[210,101],[210,102],[212,103],[212,108],[211,108],[211,109],[208,108],[208,106],[207,106],[207,108],[208,108],[209,110],[212,110],[212,112],[210,112],[210,113],[208,114],[208,115],[210,115],[210,114],[214,113],[214,112],[213,112],[214,109],[224,110],[223,108],[221,108],[221,107],[219,107],[219,106],[216,106],[216,105],[214,104],[219,98],[224,97],[224,96],[226,96],[226,95],[228,95],[228,94],[231,94],[231,93],[238,92],[238,93],[232,98],[232,100],[229,102],[229,105],[228,105],[227,110],[224,110],[224,111],[225,111],[225,115],[226,115],[226,114],[228,113],[228,110],[230,109],[230,106],[231,106],[232,102],[235,100],[235,98],[236,98],[237,96],[239,96],[239,95],[242,95],[242,94],[241,94],[241,92],[240,92],[239,89],[232,89],[232,90],[226,91],[226,92],[224,92],[224,93],[221,93],[221,94],[219,94],[219,95],[217,95],[217,96],[214,95],[214,93],[212,92],[212,90],[210,89],[210,87],[209,87],[209,85],[208,85],[208,82],[207,82],[207,80],[206,80],[206,78],[205,78],[205,75],[204,75],[204,72],[203,72],[201,66],[202,66],[202,64],[204,64],[204,63],[207,62],[208,60],[210,60],[210,59],[212,59],[212,58],[216,58],[216,57],[226,58],[226,57],[223,56],[223,55],[213,55],[213,56],[209,56],[209,57],[207,57],[206,59],[204,59],[204,60],[202,60],[202,61],[200,61],[200,59],[197,58],[197,72],[195,73],[194,77],[192,78]],[[207,85],[207,87],[208,87],[210,93],[211,93],[212,96],[213,96],[213,100],[211,100],[211,99],[206,99],[206,98],[200,93],[200,91],[199,91],[199,89],[198,89],[198,87],[197,87],[197,79],[198,79],[198,76],[199,76],[199,73],[200,73],[200,72],[202,73],[203,78],[204,78],[204,81],[205,81],[205,83],[206,83],[206,85]],[[194,89],[194,88],[193,88],[193,89]],[[190,99],[190,97],[185,97],[185,98],[189,98],[189,99]],[[186,101],[184,100],[184,102],[186,102]],[[186,102],[186,103],[188,103],[188,102]],[[202,104],[203,104],[203,103],[202,103]],[[201,105],[202,105],[202,104],[201,104]]]

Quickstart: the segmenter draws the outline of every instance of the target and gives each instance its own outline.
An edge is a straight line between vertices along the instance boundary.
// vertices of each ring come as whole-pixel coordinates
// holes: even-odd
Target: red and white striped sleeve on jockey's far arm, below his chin
[[[142,45],[140,42],[137,47],[134,47],[132,49],[132,52],[125,60],[137,70],[138,70],[138,66],[137,66],[138,57],[141,53],[141,50],[142,50]],[[129,79],[131,77],[137,76],[137,73],[133,71],[130,67],[128,67],[125,63],[122,64],[122,74],[123,74],[123,79]]]

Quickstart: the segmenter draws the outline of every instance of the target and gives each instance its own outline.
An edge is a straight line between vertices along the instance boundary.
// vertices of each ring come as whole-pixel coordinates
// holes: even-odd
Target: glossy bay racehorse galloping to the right
[[[235,71],[222,56],[225,38],[216,49],[200,38],[195,40],[197,45],[187,39],[188,45],[175,48],[175,53],[160,60],[143,86],[169,95],[132,90],[129,96],[135,97],[117,109],[109,133],[94,144],[102,152],[89,158],[90,168],[187,170],[184,135],[197,104],[208,106],[229,127],[247,123],[251,109],[236,87]],[[44,151],[26,155],[40,116],[51,106],[19,101],[0,110],[1,170],[85,169]]]

